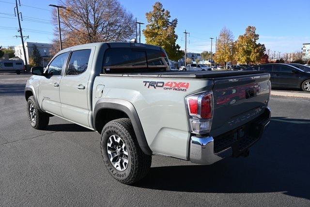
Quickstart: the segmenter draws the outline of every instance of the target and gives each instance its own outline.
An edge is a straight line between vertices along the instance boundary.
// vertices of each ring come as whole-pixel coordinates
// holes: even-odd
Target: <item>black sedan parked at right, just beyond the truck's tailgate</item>
[[[310,92],[310,67],[299,69],[289,64],[261,64],[251,69],[270,73],[272,87],[300,88]]]

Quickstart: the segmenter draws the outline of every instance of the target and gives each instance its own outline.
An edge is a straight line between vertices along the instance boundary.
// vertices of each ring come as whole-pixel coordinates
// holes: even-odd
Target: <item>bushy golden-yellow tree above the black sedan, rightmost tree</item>
[[[235,57],[239,63],[260,63],[266,48],[264,45],[257,43],[258,39],[259,35],[253,26],[248,26],[246,32],[238,37],[235,42]]]

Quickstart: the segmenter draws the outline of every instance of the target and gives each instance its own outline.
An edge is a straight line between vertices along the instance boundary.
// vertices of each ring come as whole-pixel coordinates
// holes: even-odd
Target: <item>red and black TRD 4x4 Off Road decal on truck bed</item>
[[[189,87],[188,82],[162,82],[162,81],[143,81],[144,86],[148,88],[162,88],[164,90],[172,90],[172,91],[186,91]]]

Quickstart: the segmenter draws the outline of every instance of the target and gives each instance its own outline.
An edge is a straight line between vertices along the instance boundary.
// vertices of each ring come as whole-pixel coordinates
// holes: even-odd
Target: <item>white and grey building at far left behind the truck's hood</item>
[[[36,42],[25,42],[25,50],[26,50],[26,58],[27,58],[27,63],[29,63],[29,57],[32,55],[32,50],[33,46],[35,45],[41,55],[41,64],[42,66],[46,66],[49,62],[49,50],[52,47],[52,44],[48,43],[36,43]],[[19,57],[21,60],[24,61],[25,63],[25,56],[24,56],[24,51],[23,51],[23,46],[18,45],[15,48],[15,56]]]

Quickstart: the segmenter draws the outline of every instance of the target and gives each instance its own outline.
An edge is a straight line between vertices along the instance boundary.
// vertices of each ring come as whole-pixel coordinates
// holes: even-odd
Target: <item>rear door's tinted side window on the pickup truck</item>
[[[91,49],[73,51],[69,60],[66,75],[79,75],[87,70]]]

